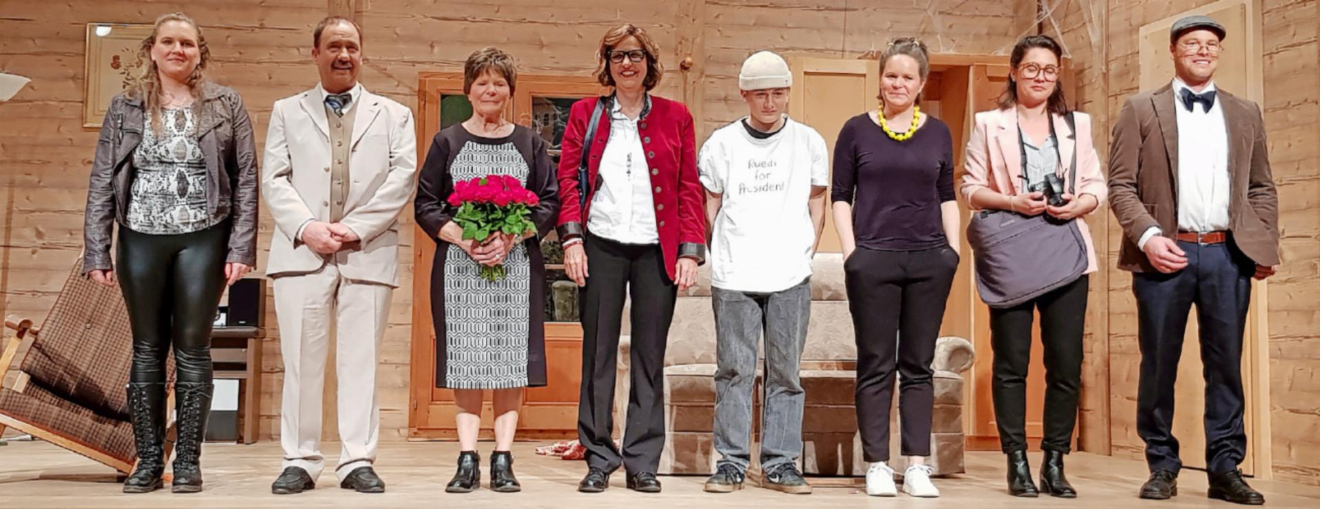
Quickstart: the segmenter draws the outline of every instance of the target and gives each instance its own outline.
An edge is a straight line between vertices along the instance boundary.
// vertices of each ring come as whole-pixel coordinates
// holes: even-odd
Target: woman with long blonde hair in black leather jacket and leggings
[[[202,491],[211,323],[256,265],[256,149],[239,95],[206,79],[210,51],[183,13],[156,20],[143,71],[106,112],[87,190],[83,272],[123,287],[133,331],[128,406],[137,467],[124,492],[164,485],[165,361],[174,349],[172,491]],[[115,223],[115,261],[110,248]],[[117,273],[117,278],[116,278]]]

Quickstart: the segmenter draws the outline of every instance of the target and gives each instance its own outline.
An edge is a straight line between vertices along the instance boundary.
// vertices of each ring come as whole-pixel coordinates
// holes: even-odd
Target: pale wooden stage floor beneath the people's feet
[[[173,494],[124,494],[108,467],[42,442],[13,442],[0,447],[0,508],[276,508],[276,506],[490,506],[490,508],[1230,508],[1232,504],[1205,497],[1205,475],[1185,471],[1179,496],[1171,501],[1143,501],[1137,488],[1144,480],[1144,464],[1090,454],[1068,456],[1068,475],[1081,492],[1076,500],[1014,498],[1003,491],[1003,455],[970,452],[969,473],[937,479],[942,497],[919,500],[867,497],[859,488],[816,488],[814,494],[792,496],[748,487],[731,494],[701,491],[704,477],[663,476],[664,493],[643,494],[623,488],[622,475],[602,494],[576,492],[585,473],[581,462],[537,456],[532,443],[515,446],[515,471],[521,493],[494,493],[480,489],[467,494],[444,492],[453,475],[458,444],[453,442],[388,442],[380,447],[378,472],[388,489],[383,494],[362,494],[338,488],[334,473],[321,475],[318,488],[296,496],[271,494],[271,481],[280,472],[280,447],[272,440],[249,446],[207,444],[202,456],[206,491]],[[482,443],[483,463],[491,443]],[[338,444],[325,451],[338,454]],[[1032,465],[1040,462],[1032,455]],[[488,463],[487,463],[488,464]],[[483,464],[483,471],[486,464]],[[484,473],[484,472],[483,472]],[[620,472],[622,473],[622,472]],[[1320,487],[1262,481],[1251,483],[1265,492],[1269,508],[1320,508]]]

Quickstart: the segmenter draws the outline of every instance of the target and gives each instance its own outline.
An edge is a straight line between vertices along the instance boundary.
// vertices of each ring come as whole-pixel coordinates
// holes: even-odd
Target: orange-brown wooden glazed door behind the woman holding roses
[[[430,140],[440,129],[467,120],[471,105],[457,73],[422,73],[418,87],[418,161],[425,160]],[[560,140],[573,102],[602,94],[591,78],[520,76],[507,117],[532,128],[550,142],[558,161]],[[436,335],[430,319],[430,270],[436,244],[416,228],[413,277],[413,334],[411,438],[454,438],[453,392],[436,388]],[[546,262],[545,359],[546,386],[528,389],[519,422],[519,438],[566,438],[577,435],[578,382],[582,376],[582,327],[577,323],[577,287],[564,274],[564,257],[554,233],[541,243]],[[488,393],[487,393],[488,394]],[[490,397],[482,411],[482,436],[494,436]]]

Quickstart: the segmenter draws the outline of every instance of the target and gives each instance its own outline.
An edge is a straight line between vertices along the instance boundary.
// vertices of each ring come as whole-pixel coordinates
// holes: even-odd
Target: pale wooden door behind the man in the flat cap
[[[1140,87],[1155,90],[1173,79],[1168,30],[1183,16],[1205,15],[1228,29],[1214,73],[1217,88],[1257,102],[1262,100],[1259,11],[1254,1],[1229,0],[1179,13],[1140,28]],[[1254,21],[1253,21],[1254,20]],[[1266,473],[1269,469],[1269,349],[1266,330],[1266,284],[1257,281],[1251,289],[1251,307],[1242,344],[1242,390],[1246,396],[1243,423],[1247,435],[1242,472]],[[1183,339],[1183,357],[1177,365],[1175,389],[1173,435],[1177,436],[1183,465],[1205,468],[1205,380],[1201,374],[1200,328],[1192,310]],[[1259,455],[1266,455],[1262,460]]]

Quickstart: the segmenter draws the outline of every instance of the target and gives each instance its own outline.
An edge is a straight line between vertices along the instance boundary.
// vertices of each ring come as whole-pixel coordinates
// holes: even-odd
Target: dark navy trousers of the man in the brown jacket
[[[1230,472],[1246,455],[1242,332],[1255,264],[1228,243],[1179,241],[1177,247],[1187,252],[1183,270],[1133,274],[1142,349],[1137,434],[1146,442],[1146,463],[1152,471],[1177,472],[1183,467],[1172,430],[1173,381],[1195,305],[1205,377],[1205,469]]]

